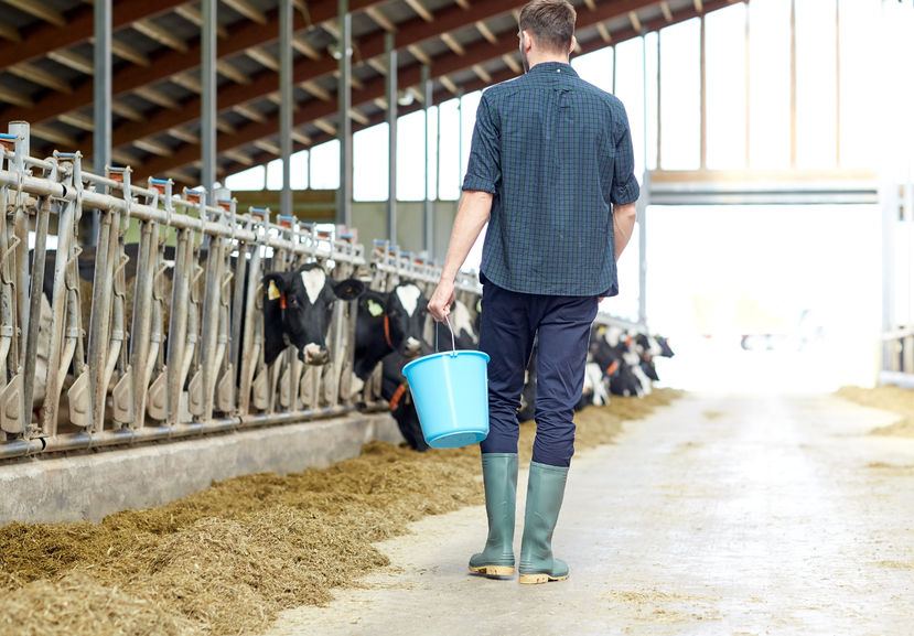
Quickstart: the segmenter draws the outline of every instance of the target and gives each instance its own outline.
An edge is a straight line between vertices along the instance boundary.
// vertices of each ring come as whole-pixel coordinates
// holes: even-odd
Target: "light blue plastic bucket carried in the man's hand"
[[[422,435],[431,448],[469,446],[488,435],[487,364],[488,355],[482,352],[452,351],[404,367]]]

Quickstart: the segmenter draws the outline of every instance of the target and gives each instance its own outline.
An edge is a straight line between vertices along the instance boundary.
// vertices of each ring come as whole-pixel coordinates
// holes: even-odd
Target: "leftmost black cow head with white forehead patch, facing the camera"
[[[326,335],[333,304],[351,301],[365,291],[356,279],[334,281],[318,263],[295,271],[271,272],[264,277],[265,358],[271,364],[292,345],[308,365],[330,360]]]

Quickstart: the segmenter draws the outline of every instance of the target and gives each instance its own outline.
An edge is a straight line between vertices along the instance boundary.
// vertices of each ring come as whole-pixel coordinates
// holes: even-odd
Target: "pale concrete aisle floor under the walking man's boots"
[[[893,419],[690,396],[576,459],[555,539],[569,581],[466,575],[485,537],[466,508],[383,543],[389,569],[269,635],[914,634],[914,440],[865,435]]]

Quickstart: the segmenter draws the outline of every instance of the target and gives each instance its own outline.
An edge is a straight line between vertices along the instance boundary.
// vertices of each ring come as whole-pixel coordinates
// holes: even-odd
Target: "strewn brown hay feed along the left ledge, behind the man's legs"
[[[579,449],[611,443],[622,422],[677,391],[577,414]],[[521,427],[529,461],[534,424]],[[423,454],[370,443],[324,470],[250,475],[100,524],[0,528],[0,634],[244,635],[277,613],[331,600],[388,564],[372,543],[407,525],[483,503],[478,450]]]

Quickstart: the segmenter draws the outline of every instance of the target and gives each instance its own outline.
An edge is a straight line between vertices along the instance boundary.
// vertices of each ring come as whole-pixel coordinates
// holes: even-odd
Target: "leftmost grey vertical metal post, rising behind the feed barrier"
[[[93,74],[93,165],[105,172],[111,162],[111,0],[95,0]],[[99,212],[92,217],[90,241],[98,236]]]

